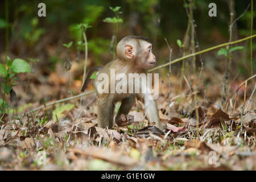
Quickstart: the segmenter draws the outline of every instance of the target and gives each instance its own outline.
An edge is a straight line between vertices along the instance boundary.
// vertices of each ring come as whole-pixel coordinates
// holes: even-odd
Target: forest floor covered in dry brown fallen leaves
[[[79,63],[74,63],[71,73],[76,74],[79,68]],[[2,119],[4,123],[0,123],[0,169],[256,169],[255,100],[254,97],[249,100],[255,80],[248,81],[247,88],[241,86],[236,100],[235,91],[244,80],[236,78],[230,82],[228,102],[221,107],[222,75],[204,71],[204,80],[210,80],[211,84],[205,85],[206,92],[200,84],[197,129],[195,92],[188,82],[183,80],[180,92],[180,78],[172,75],[168,101],[168,78],[160,78],[156,101],[164,126],[162,132],[154,123],[149,125],[140,101],[130,111],[134,115],[132,125],[97,127],[97,104],[95,101],[90,104],[95,93],[27,113],[40,106],[44,98],[49,102],[79,94],[81,80],[71,83],[69,73],[63,72],[61,65],[57,64],[56,72],[48,77],[42,75],[38,71],[31,73],[28,88],[22,84],[27,76],[21,75],[21,84],[14,87],[18,109],[10,110]],[[196,82],[193,81],[193,88]],[[89,85],[85,92],[91,90]]]

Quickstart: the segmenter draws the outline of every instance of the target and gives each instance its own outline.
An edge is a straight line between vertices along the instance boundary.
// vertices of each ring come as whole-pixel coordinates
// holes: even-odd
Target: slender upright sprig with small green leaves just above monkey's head
[[[103,20],[103,22],[106,23],[113,23],[115,24],[115,29],[114,29],[114,46],[112,48],[113,51],[113,59],[115,59],[115,47],[117,47],[117,32],[118,32],[118,23],[122,23],[123,19],[119,18],[119,14],[122,14],[122,11],[119,11],[121,9],[120,6],[116,6],[116,7],[109,7],[110,10],[112,10],[114,12],[114,17],[110,18],[107,17]],[[112,39],[113,40],[113,39]]]

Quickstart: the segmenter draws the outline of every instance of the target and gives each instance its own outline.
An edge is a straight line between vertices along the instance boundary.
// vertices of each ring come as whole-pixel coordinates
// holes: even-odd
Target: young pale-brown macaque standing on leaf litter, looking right
[[[154,67],[156,63],[155,56],[152,53],[152,44],[148,42],[146,38],[141,36],[126,36],[117,44],[116,52],[117,59],[106,64],[103,68],[94,67],[89,71],[81,89],[83,92],[92,73],[99,71],[94,80],[94,88],[96,89],[98,96],[98,126],[108,126],[109,129],[112,128],[113,125],[116,102],[122,101],[122,104],[115,117],[115,123],[119,126],[123,126],[120,125],[119,119],[121,119],[121,117],[123,118],[123,115],[125,115],[126,119],[129,118],[127,117],[127,114],[131,110],[137,94],[135,92],[129,92],[129,83],[134,83],[134,79],[129,78],[129,73],[146,73],[146,69]],[[114,72],[115,75],[123,73],[126,76],[127,81],[124,82],[122,79],[113,78],[110,72]],[[105,77],[107,77],[107,79]],[[104,89],[108,92],[102,93],[102,80],[104,80],[105,85],[107,85]],[[126,89],[127,92],[113,92],[111,84],[125,84],[125,88],[123,89]],[[136,87],[139,87],[140,89],[148,89],[148,87],[141,82],[135,82],[132,89],[134,90]],[[145,102],[144,105],[147,118],[150,122],[155,122],[156,126],[162,130],[162,125],[159,121],[158,107],[155,100],[150,99],[150,96],[152,96],[151,93],[142,93],[142,96]]]

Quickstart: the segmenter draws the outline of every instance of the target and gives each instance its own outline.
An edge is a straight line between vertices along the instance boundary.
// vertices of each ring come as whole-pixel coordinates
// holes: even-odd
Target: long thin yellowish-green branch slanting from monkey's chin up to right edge
[[[174,64],[174,63],[177,63],[183,59],[187,59],[188,57],[192,57],[192,56],[196,56],[196,55],[199,55],[200,53],[205,53],[205,52],[209,52],[209,51],[212,51],[214,49],[217,49],[217,48],[220,48],[220,47],[224,47],[224,46],[228,46],[230,44],[236,44],[236,43],[240,43],[240,42],[243,42],[245,40],[248,40],[248,39],[252,39],[252,38],[255,38],[256,37],[256,34],[252,35],[252,36],[248,36],[247,38],[243,38],[243,39],[239,39],[239,40],[236,40],[236,41],[233,41],[233,42],[228,42],[228,43],[224,43],[224,44],[220,44],[220,45],[217,45],[217,46],[213,46],[213,47],[210,47],[210,48],[207,48],[207,49],[204,49],[202,51],[199,51],[199,52],[195,52],[195,53],[191,53],[189,55],[186,55],[186,56],[182,56],[180,58],[177,58],[173,61],[171,61],[171,63],[166,63],[166,64],[162,64],[158,67],[155,67],[153,69],[150,69],[148,72],[153,72],[157,69],[160,69],[160,68],[163,68],[163,67],[167,67],[169,64]]]

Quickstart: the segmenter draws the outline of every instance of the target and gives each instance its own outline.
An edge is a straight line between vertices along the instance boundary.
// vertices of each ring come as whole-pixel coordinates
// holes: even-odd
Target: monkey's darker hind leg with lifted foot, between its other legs
[[[135,94],[132,94],[130,97],[122,100],[122,104],[118,110],[117,116],[115,117],[115,123],[117,123],[118,126],[131,125],[134,121],[133,115],[127,115],[131,110],[131,107],[133,107],[134,99]]]

